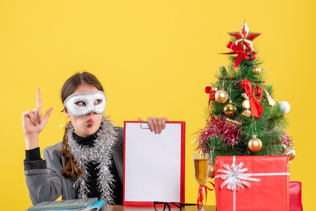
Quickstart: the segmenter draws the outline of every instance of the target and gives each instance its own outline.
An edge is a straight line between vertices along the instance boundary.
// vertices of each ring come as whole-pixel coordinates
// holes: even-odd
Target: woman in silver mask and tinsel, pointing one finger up
[[[63,141],[44,149],[44,160],[38,137],[52,108],[43,116],[39,89],[36,108],[22,114],[24,170],[32,203],[62,195],[63,199],[97,197],[106,204],[122,204],[123,128],[114,126],[103,114],[107,97],[102,85],[88,72],[77,73],[65,82],[61,96],[70,122]],[[166,121],[165,117],[147,118],[156,133],[162,132]]]

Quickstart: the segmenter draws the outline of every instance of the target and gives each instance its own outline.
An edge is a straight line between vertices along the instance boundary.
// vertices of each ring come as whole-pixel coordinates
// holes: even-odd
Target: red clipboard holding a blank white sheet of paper
[[[185,122],[167,122],[161,134],[147,122],[124,122],[123,206],[184,203],[184,176]]]

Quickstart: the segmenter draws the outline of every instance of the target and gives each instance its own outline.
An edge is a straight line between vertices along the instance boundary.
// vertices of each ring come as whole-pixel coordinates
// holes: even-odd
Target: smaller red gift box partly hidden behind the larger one
[[[290,207],[289,211],[302,211],[302,183],[290,180]]]

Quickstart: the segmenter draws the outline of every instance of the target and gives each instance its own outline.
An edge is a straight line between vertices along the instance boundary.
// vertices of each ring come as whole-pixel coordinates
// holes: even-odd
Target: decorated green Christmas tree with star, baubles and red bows
[[[196,150],[218,155],[287,155],[294,159],[293,140],[286,133],[290,110],[287,101],[273,97],[266,83],[267,70],[258,59],[252,41],[261,33],[250,32],[246,21],[227,47],[229,64],[221,66],[217,81],[206,86],[209,95],[205,127],[197,132]]]

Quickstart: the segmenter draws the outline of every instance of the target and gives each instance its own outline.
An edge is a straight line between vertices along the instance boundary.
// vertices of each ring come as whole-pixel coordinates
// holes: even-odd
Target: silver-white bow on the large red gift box
[[[243,185],[246,185],[250,187],[250,183],[245,181],[254,181],[259,182],[260,179],[257,178],[251,178],[251,174],[244,174],[248,171],[247,168],[242,169],[242,166],[244,164],[241,162],[239,165],[237,165],[236,162],[233,162],[231,167],[229,167],[228,164],[225,164],[223,167],[226,169],[219,169],[218,172],[225,173],[223,175],[218,175],[222,180],[225,180],[223,184],[221,185],[221,189],[227,185],[228,190],[236,191],[239,188],[244,189],[245,187]]]

